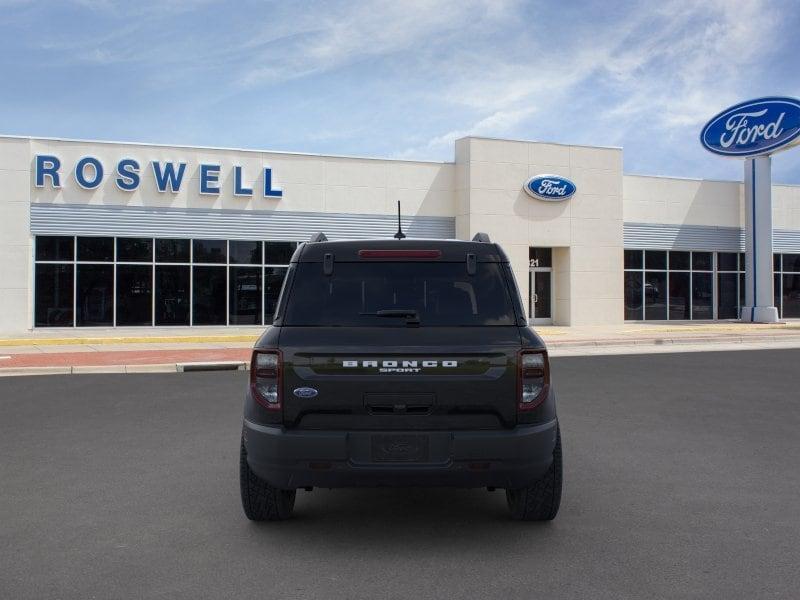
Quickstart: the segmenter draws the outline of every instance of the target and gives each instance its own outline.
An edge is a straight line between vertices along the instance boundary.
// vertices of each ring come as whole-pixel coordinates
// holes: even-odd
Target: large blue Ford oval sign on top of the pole
[[[758,156],[800,142],[800,100],[758,98],[731,106],[700,132],[700,143],[722,156]]]

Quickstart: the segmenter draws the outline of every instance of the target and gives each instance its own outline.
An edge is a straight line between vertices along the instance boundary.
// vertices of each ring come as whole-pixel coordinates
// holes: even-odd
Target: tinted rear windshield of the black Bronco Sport
[[[501,265],[478,263],[468,275],[463,262],[335,263],[326,276],[320,263],[299,263],[283,324],[405,327],[414,319],[421,327],[514,325]]]

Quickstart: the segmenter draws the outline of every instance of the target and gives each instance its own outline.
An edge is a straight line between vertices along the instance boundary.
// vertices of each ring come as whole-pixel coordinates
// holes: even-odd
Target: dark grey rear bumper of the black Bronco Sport
[[[558,422],[503,431],[289,431],[245,420],[247,462],[278,488],[521,488],[553,460]]]

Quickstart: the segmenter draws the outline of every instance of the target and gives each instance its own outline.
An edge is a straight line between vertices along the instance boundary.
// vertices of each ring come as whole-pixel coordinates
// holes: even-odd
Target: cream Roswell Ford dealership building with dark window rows
[[[487,233],[536,324],[736,319],[736,181],[625,175],[621,148],[466,137],[452,162],[0,137],[0,335],[269,324],[297,244]],[[567,199],[528,193],[539,175]],[[800,186],[772,186],[774,298],[800,318]]]

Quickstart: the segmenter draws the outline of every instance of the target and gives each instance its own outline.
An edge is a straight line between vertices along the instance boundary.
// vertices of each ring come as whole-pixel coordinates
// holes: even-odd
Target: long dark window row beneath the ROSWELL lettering
[[[263,325],[297,242],[37,236],[34,325]]]

